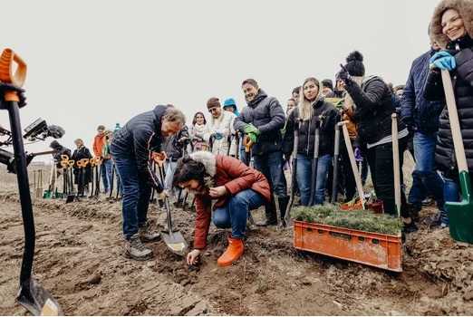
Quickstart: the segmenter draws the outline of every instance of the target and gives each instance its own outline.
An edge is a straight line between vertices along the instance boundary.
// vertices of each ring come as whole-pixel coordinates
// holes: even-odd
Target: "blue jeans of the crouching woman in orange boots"
[[[246,232],[246,220],[251,209],[265,205],[263,195],[253,189],[245,189],[228,199],[228,203],[214,210],[214,224],[217,228],[232,228],[232,238],[241,239]]]

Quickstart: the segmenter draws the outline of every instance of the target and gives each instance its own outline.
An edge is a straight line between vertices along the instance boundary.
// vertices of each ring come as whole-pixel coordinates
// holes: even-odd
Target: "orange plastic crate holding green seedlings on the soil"
[[[401,235],[381,235],[294,220],[294,247],[402,272]]]

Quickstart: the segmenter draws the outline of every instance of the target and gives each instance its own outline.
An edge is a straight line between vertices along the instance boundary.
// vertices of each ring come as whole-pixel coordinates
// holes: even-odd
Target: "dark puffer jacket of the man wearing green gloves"
[[[273,97],[268,97],[265,91],[260,89],[253,101],[241,110],[236,117],[234,128],[243,132],[246,125],[252,123],[258,128],[260,135],[256,144],[251,148],[252,155],[263,155],[265,153],[280,151],[283,149],[283,135],[281,129],[285,126],[285,110]]]

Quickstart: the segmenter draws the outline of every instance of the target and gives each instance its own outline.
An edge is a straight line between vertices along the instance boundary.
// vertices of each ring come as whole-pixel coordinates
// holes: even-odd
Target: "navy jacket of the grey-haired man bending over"
[[[168,106],[156,106],[154,110],[140,113],[130,119],[113,139],[111,155],[125,155],[136,161],[140,176],[148,178],[150,186],[162,192],[164,187],[150,167],[151,152],[161,151],[161,119]]]

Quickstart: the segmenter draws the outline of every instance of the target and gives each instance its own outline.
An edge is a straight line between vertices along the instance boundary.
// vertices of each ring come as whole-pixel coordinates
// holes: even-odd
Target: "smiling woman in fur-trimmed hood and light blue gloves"
[[[468,174],[471,174],[473,172],[473,147],[471,146],[473,138],[473,1],[441,1],[435,8],[430,21],[430,36],[439,43],[441,50],[430,58],[430,73],[423,96],[428,101],[444,99],[445,91],[440,70],[450,72]],[[460,201],[458,158],[455,153],[448,107],[442,110],[439,117],[435,160],[445,180],[445,201]],[[445,210],[447,211],[447,204]],[[443,216],[441,226],[448,225],[448,217]]]

